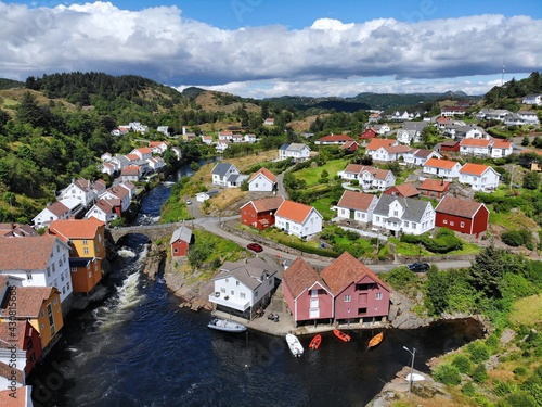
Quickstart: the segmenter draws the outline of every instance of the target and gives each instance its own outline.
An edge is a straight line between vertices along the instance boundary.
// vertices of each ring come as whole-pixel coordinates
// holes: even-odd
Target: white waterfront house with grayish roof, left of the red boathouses
[[[279,265],[261,257],[225,262],[214,280],[209,302],[218,310],[251,319],[260,306],[269,304],[276,284]]]

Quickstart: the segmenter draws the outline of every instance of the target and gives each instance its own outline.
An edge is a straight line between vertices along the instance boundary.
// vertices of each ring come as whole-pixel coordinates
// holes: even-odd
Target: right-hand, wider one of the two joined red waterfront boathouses
[[[336,321],[387,318],[390,289],[350,253],[333,260],[321,277],[335,296]]]

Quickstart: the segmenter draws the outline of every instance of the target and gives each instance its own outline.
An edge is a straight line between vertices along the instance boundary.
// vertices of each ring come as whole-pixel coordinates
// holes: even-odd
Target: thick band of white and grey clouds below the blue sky
[[[126,11],[94,2],[28,9],[0,2],[0,72],[21,80],[100,71],[171,86],[245,89],[255,97],[339,96],[358,88],[460,90],[454,78],[499,77],[504,58],[508,72],[528,75],[542,66],[542,21],[528,16],[359,24],[320,18],[298,30],[281,25],[225,30],[185,18],[177,7]],[[378,77],[386,80],[363,82]],[[489,89],[489,84],[461,86]]]

